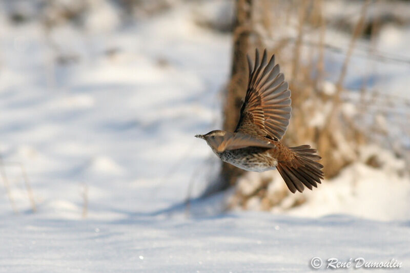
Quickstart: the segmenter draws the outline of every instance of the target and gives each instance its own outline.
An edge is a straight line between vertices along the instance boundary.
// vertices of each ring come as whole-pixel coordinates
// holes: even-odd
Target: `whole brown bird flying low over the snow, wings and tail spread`
[[[321,159],[310,145],[288,148],[280,141],[291,117],[291,91],[275,65],[256,49],[255,65],[248,57],[248,90],[235,132],[214,130],[195,137],[204,139],[224,162],[240,169],[264,172],[277,169],[292,193],[312,190],[323,179]]]

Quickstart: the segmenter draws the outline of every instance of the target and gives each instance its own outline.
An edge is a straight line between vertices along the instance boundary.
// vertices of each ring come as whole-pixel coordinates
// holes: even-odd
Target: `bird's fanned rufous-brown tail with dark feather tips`
[[[321,159],[310,145],[289,148],[293,152],[291,161],[278,162],[277,170],[292,193],[303,192],[304,186],[312,190],[323,179]],[[304,185],[304,186],[303,186]]]

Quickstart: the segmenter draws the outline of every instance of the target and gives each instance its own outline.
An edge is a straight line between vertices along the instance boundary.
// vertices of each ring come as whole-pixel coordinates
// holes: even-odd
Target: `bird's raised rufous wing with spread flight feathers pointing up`
[[[248,90],[235,132],[280,140],[291,117],[291,91],[275,65],[275,55],[269,62],[266,50],[261,60],[257,49],[255,55],[255,66],[247,55]]]

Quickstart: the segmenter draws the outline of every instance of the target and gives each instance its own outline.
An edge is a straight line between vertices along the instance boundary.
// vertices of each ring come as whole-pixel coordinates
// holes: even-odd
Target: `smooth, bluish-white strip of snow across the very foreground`
[[[1,223],[3,272],[308,272],[316,256],[395,258],[402,270],[410,262],[408,222],[255,212],[172,220],[17,218]]]

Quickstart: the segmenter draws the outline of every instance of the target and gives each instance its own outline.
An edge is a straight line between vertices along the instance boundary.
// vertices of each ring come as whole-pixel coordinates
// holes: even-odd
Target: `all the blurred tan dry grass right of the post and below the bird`
[[[283,141],[289,146],[310,144],[318,150],[324,165],[325,178],[329,179],[339,174],[348,164],[358,160],[359,148],[363,144],[385,141],[386,129],[379,125],[391,115],[395,105],[402,98],[395,99],[388,94],[379,94],[375,90],[367,90],[367,79],[363,77],[363,85],[359,98],[349,101],[343,83],[354,53],[357,41],[363,37],[368,9],[371,5],[378,5],[380,1],[365,0],[356,16],[356,22],[351,32],[350,43],[342,52],[344,60],[335,82],[326,81],[324,60],[327,50],[332,46],[326,45],[325,35],[329,20],[324,16],[324,0],[275,1],[258,0],[254,2],[253,24],[255,26],[255,47],[267,48],[275,54],[282,72],[290,83],[292,91],[292,118]],[[270,16],[267,10],[270,10]],[[262,12],[263,11],[263,12]],[[280,12],[282,11],[282,12]],[[286,11],[286,12],[283,12]],[[269,20],[265,19],[269,16]],[[268,23],[269,22],[269,26]],[[391,60],[380,56],[376,49],[376,35],[380,28],[378,19],[372,21],[370,33],[370,50],[368,50],[368,64],[372,60]],[[287,33],[287,30],[289,33]],[[277,34],[279,33],[279,34]],[[306,38],[308,37],[309,38]],[[316,40],[315,40],[316,39]],[[338,51],[340,53],[340,51]],[[373,54],[375,53],[375,54]],[[402,61],[402,60],[401,60]],[[371,65],[367,66],[369,74],[374,72]],[[374,73],[373,73],[374,74]],[[409,103],[405,101],[404,103]],[[349,105],[348,105],[349,104]],[[383,108],[379,106],[382,105]],[[354,113],[346,111],[351,106]],[[384,109],[388,107],[388,110]],[[376,125],[370,125],[369,116],[373,116]],[[366,122],[362,122],[367,119]],[[403,122],[406,122],[404,119]],[[408,128],[408,124],[403,126]],[[391,147],[392,150],[402,150]],[[410,158],[410,156],[409,156]],[[372,164],[372,162],[369,162]],[[374,164],[373,164],[374,165]],[[252,199],[259,200],[259,209],[270,210],[283,200],[290,199],[289,191],[283,186],[275,191],[268,191],[274,180],[281,179],[271,174],[267,181],[265,175],[252,176],[245,174],[238,180],[236,194],[232,196],[230,206],[249,208]],[[242,185],[252,180],[256,186],[253,191],[243,191]],[[284,183],[280,183],[283,184]],[[268,193],[270,192],[270,193]],[[275,196],[270,196],[274,193]],[[301,195],[291,199],[287,206],[292,207],[304,202]]]

